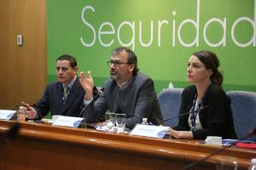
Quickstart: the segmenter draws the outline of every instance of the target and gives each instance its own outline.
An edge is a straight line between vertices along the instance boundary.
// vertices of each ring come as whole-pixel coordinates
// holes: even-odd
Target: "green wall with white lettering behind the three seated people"
[[[72,54],[102,86],[111,50],[128,46],[158,92],[169,82],[183,88],[190,54],[207,49],[225,90],[256,92],[255,10],[254,0],[48,0],[49,82],[55,59]]]

